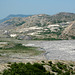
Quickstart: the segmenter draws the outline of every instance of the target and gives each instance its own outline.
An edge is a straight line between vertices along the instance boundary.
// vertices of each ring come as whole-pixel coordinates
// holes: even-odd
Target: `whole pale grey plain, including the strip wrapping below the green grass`
[[[59,41],[28,41],[22,43],[26,46],[39,47],[38,50],[45,51],[40,55],[30,56],[24,53],[9,54],[0,56],[0,63],[7,62],[33,62],[42,60],[68,60],[75,61],[75,40]]]

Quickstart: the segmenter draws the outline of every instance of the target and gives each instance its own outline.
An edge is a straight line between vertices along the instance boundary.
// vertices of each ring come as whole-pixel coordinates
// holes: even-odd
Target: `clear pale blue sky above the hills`
[[[75,13],[75,0],[0,0],[0,19],[10,14]]]

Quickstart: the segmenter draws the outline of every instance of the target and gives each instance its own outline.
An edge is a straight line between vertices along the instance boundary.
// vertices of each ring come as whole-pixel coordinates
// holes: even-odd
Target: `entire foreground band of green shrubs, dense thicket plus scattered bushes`
[[[2,75],[75,75],[74,64],[52,61],[42,63],[8,63]]]

